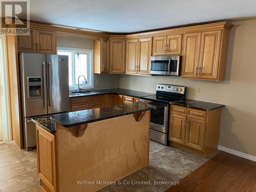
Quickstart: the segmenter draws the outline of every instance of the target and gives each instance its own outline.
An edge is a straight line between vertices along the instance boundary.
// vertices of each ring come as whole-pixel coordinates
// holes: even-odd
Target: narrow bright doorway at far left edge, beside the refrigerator
[[[0,35],[0,142],[11,140],[6,36]]]

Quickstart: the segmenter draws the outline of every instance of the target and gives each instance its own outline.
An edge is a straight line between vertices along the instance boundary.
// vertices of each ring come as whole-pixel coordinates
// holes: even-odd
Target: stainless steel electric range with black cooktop
[[[168,145],[169,105],[172,101],[184,100],[186,88],[170,84],[157,84],[156,95],[143,97],[144,101],[167,103],[164,108],[151,111],[150,139]]]

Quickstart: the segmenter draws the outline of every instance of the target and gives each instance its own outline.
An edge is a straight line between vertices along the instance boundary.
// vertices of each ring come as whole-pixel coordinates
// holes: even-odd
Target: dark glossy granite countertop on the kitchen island
[[[48,132],[55,133],[55,123],[59,123],[64,127],[71,127],[101,121],[104,119],[150,111],[157,108],[163,108],[166,105],[167,104],[161,102],[152,102],[152,104],[147,102],[137,102],[116,106],[106,106],[103,108],[76,111],[70,113],[41,116],[37,118],[32,118],[32,121],[47,130]]]

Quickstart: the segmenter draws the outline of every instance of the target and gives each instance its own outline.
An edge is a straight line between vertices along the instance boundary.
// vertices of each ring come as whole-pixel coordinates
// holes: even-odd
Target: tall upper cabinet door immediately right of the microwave
[[[185,33],[181,77],[196,78],[199,66],[201,32]]]

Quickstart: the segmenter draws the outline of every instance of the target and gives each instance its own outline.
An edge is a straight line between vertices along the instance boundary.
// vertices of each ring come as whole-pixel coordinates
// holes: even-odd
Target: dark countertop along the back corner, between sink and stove
[[[90,92],[90,91],[87,91]],[[127,90],[127,89],[104,89],[104,90],[92,90],[91,92],[94,92],[96,94],[93,95],[103,95],[103,94],[121,94],[121,95],[127,95],[127,96],[132,96],[132,97],[145,97],[145,96],[150,96],[154,95],[154,93],[147,93],[147,92],[141,92],[141,91],[133,91],[133,90]],[[74,95],[74,96],[69,96],[70,98],[74,97],[88,97],[88,96],[93,96],[93,95]]]

